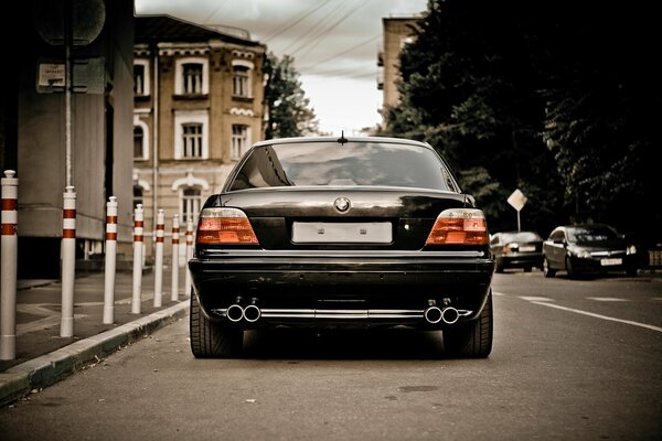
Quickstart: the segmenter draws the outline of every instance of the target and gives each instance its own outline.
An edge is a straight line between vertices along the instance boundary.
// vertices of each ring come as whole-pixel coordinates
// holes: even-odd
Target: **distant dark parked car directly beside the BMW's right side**
[[[494,233],[490,248],[496,272],[509,268],[522,268],[526,272],[532,268],[543,268],[543,238],[536,232]]]

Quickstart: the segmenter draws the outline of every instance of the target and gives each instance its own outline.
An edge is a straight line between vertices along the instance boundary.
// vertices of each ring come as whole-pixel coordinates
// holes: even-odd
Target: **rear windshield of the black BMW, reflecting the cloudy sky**
[[[380,142],[310,142],[254,148],[231,191],[265,186],[378,185],[458,191],[431,149]]]

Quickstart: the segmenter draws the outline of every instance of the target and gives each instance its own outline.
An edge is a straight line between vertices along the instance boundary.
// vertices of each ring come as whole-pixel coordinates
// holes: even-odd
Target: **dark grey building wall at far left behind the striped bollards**
[[[109,196],[119,203],[118,244],[130,249],[134,2],[4,2],[0,24],[0,157],[19,179],[18,272],[55,279],[67,185],[76,193],[77,262],[104,256]]]

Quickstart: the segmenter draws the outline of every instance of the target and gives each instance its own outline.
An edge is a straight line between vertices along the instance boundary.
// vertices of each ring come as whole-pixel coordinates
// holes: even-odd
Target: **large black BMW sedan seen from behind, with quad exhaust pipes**
[[[239,353],[245,330],[405,326],[445,352],[492,348],[483,212],[427,143],[291,138],[254,144],[200,213],[195,357]]]

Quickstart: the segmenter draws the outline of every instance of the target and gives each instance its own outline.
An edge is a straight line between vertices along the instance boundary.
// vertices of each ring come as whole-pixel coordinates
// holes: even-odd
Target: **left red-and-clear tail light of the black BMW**
[[[196,244],[257,244],[246,214],[237,208],[204,208],[197,220]]]

